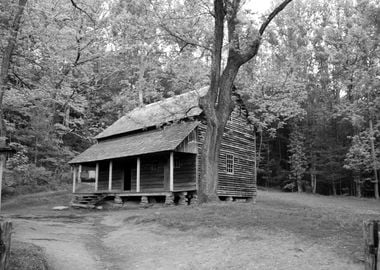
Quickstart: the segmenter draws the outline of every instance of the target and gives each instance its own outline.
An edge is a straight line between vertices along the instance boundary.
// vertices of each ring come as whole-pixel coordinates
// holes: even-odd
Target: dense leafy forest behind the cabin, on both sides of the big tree
[[[247,38],[262,21],[249,5],[238,19]],[[69,184],[67,162],[120,116],[208,85],[212,29],[202,0],[1,1],[1,113],[17,151],[4,193]],[[377,1],[295,0],[276,16],[235,81],[259,185],[378,196],[379,37]]]

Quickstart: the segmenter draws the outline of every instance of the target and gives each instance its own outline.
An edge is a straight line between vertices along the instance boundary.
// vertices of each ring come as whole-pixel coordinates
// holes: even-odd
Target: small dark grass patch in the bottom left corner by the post
[[[39,246],[14,241],[8,270],[47,270],[45,253]]]

